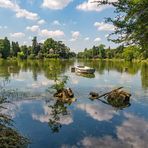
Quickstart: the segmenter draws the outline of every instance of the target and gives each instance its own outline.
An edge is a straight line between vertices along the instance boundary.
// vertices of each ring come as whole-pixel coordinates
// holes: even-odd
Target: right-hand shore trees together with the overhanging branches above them
[[[97,0],[94,3],[113,6],[115,17],[106,18],[114,26],[108,40],[122,46],[110,50],[104,45],[85,49],[78,57],[120,58],[125,60],[148,58],[148,1],[147,0]]]

